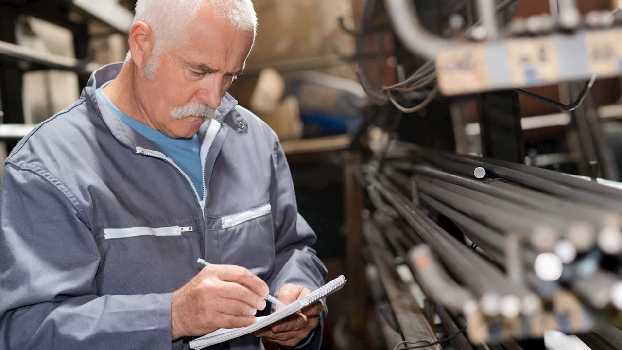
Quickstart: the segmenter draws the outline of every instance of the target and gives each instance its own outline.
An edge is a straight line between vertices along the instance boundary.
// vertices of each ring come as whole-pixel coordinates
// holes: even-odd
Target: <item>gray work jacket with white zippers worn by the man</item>
[[[170,350],[172,292],[197,258],[311,290],[326,270],[275,133],[230,96],[200,129],[205,201],[156,144],[96,97],[121,64],[6,159],[0,185],[0,349]],[[309,349],[318,349],[317,331]],[[262,349],[253,336],[215,349]]]

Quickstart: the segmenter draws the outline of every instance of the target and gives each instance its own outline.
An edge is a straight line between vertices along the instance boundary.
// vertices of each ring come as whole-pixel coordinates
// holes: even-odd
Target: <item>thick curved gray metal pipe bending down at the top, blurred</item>
[[[384,0],[397,37],[415,55],[435,60],[440,50],[451,44],[424,29],[412,0]]]

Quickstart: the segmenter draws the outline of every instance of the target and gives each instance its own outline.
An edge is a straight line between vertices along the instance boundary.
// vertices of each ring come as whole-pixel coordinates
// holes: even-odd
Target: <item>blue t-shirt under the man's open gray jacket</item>
[[[200,200],[203,201],[203,168],[201,165],[198,134],[191,138],[172,138],[158,130],[152,129],[148,125],[144,125],[140,121],[132,119],[119,110],[101,90],[101,88],[108,83],[105,83],[97,89],[97,95],[102,100],[106,101],[108,108],[110,108],[123,123],[126,123],[130,128],[134,129],[134,131],[145,136],[162,149],[164,154],[172,159],[172,161],[182,169],[183,173],[190,177],[190,180],[197,189]]]

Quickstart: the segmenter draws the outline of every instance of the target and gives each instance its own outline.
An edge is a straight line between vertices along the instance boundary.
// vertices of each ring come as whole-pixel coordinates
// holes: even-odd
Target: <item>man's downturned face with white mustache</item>
[[[172,137],[191,137],[241,74],[253,33],[236,29],[210,9],[190,24],[187,40],[165,50],[151,80],[137,79],[137,95],[152,125]]]

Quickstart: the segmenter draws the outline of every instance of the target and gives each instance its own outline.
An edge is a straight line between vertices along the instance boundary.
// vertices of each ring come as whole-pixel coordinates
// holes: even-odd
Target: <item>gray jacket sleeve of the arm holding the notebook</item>
[[[315,290],[324,285],[327,270],[312,248],[316,240],[315,232],[298,214],[292,175],[279,141],[274,144],[273,159],[275,177],[272,184],[271,205],[276,259],[267,284],[272,295],[276,295],[281,286],[286,284]],[[322,319],[326,313],[325,307]],[[313,338],[310,346],[305,346],[305,349],[320,348],[321,326],[316,329]]]

